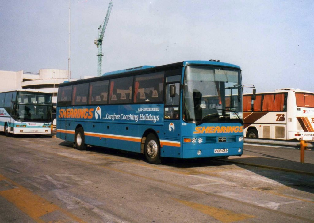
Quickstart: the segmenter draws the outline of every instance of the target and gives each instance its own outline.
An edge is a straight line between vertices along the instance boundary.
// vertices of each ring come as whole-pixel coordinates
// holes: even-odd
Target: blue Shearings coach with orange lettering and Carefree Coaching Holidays
[[[241,156],[242,82],[239,66],[183,61],[105,73],[62,83],[57,137],[86,145],[161,157]]]

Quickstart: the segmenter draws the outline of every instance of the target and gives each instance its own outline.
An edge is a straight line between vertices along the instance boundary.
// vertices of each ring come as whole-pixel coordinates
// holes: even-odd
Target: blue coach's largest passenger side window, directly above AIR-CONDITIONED
[[[164,72],[135,76],[134,103],[161,102]]]

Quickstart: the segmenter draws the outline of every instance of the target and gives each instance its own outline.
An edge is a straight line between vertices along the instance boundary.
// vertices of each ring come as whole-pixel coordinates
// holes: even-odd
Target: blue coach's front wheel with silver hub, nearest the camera
[[[149,163],[159,164],[160,160],[160,144],[157,137],[150,133],[145,140],[144,144],[145,158]]]

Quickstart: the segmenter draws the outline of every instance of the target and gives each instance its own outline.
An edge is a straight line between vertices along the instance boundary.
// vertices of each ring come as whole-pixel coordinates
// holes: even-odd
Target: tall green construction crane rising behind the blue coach
[[[104,20],[104,23],[103,23],[102,26],[100,25],[98,27],[98,39],[94,40],[94,44],[98,48],[98,54],[97,54],[97,59],[98,59],[98,61],[97,61],[97,76],[101,75],[102,56],[104,56],[102,54],[102,40],[103,40],[104,33],[105,33],[105,30],[106,30],[106,27],[107,27],[107,24],[108,24],[108,20],[109,20],[109,16],[110,16],[110,13],[111,13],[112,5],[113,5],[113,2],[110,1],[109,6],[108,6],[108,10],[107,10],[107,15],[106,15],[106,18]]]

